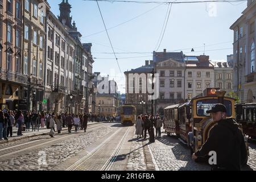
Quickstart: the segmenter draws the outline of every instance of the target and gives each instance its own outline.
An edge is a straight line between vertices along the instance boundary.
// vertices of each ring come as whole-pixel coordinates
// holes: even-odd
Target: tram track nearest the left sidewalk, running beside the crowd
[[[100,125],[100,126],[98,126],[98,125]],[[106,123],[100,123],[100,124],[98,124],[98,125],[97,125],[97,126],[95,126],[95,125],[93,125],[93,126],[88,126],[86,132],[88,132],[88,131],[93,131],[93,130],[98,129],[98,128],[100,128],[100,127],[108,126],[108,124],[106,124]],[[4,158],[6,158],[6,157],[8,157],[8,156],[12,156],[12,155],[14,155],[14,154],[19,154],[20,152],[28,151],[28,150],[30,150],[30,149],[32,149],[32,148],[37,148],[37,147],[40,147],[40,146],[47,145],[47,144],[49,144],[49,143],[54,143],[54,142],[56,142],[57,140],[63,140],[63,139],[69,138],[69,137],[74,137],[75,134],[81,135],[81,134],[85,134],[85,133],[84,133],[84,130],[81,130],[81,131],[78,131],[77,133],[73,133],[73,134],[65,133],[65,134],[64,134],[64,135],[65,135],[64,137],[59,137],[59,136],[61,136],[61,135],[56,135],[55,138],[53,138],[53,139],[51,139],[51,140],[48,140],[48,141],[46,141],[46,142],[43,142],[42,140],[47,140],[47,139],[49,139],[49,138],[43,138],[43,139],[39,139],[39,140],[33,140],[33,141],[31,141],[31,142],[25,142],[25,143],[22,143],[22,144],[17,144],[17,145],[15,145],[15,146],[10,146],[10,147],[6,147],[6,148],[2,148],[2,149],[0,150],[0,156],[1,156],[0,161],[1,161],[1,159],[4,159]],[[57,137],[59,137],[59,138],[57,138]],[[37,143],[38,143],[38,144],[37,144]],[[27,146],[30,145],[30,144],[32,144],[32,146],[27,147]]]

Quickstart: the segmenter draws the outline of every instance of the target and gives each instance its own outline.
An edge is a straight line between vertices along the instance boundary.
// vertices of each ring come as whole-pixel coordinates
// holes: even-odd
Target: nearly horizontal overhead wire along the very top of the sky
[[[212,0],[212,1],[181,1],[181,2],[161,2],[161,1],[118,1],[118,0],[82,0],[82,1],[102,1],[102,2],[120,2],[120,3],[141,3],[141,4],[149,4],[149,3],[155,3],[155,4],[168,4],[168,3],[174,3],[174,4],[187,4],[187,3],[207,3],[207,2],[220,2],[220,3],[230,3],[233,5],[233,2],[246,2],[247,0]]]

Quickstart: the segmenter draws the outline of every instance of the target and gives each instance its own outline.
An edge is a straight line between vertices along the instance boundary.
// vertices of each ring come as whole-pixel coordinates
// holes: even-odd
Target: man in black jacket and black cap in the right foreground
[[[209,138],[201,149],[192,155],[192,159],[209,155],[210,151],[216,152],[217,164],[212,170],[241,170],[242,164],[246,162],[247,151],[245,140],[237,123],[232,119],[226,119],[226,107],[216,104],[212,109],[214,123],[217,123],[210,130]]]

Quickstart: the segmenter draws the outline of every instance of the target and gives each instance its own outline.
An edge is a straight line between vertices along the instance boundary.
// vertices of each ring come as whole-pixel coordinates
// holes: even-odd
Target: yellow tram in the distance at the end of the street
[[[134,125],[136,121],[136,108],[131,105],[121,106],[121,123],[122,125]]]

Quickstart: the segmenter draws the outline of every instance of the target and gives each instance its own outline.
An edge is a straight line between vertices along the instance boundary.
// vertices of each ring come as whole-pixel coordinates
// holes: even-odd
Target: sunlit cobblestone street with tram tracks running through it
[[[138,139],[135,127],[120,123],[99,123],[86,133],[48,135],[0,144],[0,170],[127,170],[127,171],[209,171],[210,166],[191,159],[190,150],[174,135],[155,143]],[[256,169],[256,143],[250,142],[248,165]]]

